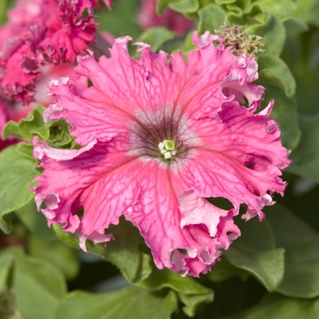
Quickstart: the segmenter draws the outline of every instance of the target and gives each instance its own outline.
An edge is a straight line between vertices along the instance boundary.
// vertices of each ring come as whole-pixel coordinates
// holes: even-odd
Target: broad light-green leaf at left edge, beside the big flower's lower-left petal
[[[29,190],[29,186],[39,175],[36,160],[31,160],[18,151],[18,145],[0,153],[0,228],[5,233],[12,231],[12,225],[5,214],[18,210],[32,201],[34,193]]]

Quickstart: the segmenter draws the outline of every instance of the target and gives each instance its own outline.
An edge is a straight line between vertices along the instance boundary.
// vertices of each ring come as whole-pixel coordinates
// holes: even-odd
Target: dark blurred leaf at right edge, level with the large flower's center
[[[300,129],[303,135],[290,156],[293,163],[287,170],[319,182],[319,115],[300,116]]]

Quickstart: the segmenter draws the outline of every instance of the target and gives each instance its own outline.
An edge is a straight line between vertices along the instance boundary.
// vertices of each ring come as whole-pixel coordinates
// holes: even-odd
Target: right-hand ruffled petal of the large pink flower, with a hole
[[[202,148],[188,168],[194,189],[202,197],[226,198],[236,208],[246,203],[249,214],[262,219],[263,206],[273,203],[270,194],[283,194],[281,170],[290,164],[278,125],[235,104],[223,108],[221,121],[207,118],[193,125]]]

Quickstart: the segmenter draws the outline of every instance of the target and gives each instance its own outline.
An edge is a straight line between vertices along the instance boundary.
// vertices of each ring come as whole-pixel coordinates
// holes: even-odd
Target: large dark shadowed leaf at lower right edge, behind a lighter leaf
[[[276,292],[298,298],[319,296],[319,234],[280,204],[265,212],[277,246],[285,250],[285,273]]]

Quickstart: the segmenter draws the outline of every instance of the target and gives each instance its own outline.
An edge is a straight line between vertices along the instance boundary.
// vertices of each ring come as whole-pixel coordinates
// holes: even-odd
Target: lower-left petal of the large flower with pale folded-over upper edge
[[[37,209],[45,214],[49,225],[59,223],[66,232],[77,233],[82,248],[87,239],[100,242],[105,238],[108,242],[112,236],[105,235],[105,229],[111,223],[118,224],[118,217],[138,196],[134,180],[139,171],[136,163],[130,163],[134,158],[118,151],[115,141],[95,143],[83,149],[53,149],[34,140],[34,154],[45,170],[34,180],[39,182],[33,189]],[[77,216],[80,209],[85,211],[81,217]]]

